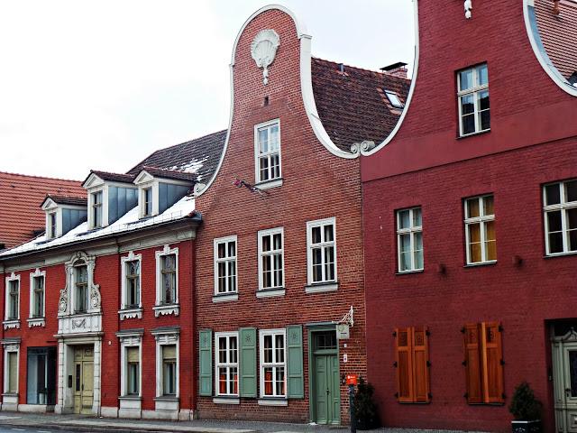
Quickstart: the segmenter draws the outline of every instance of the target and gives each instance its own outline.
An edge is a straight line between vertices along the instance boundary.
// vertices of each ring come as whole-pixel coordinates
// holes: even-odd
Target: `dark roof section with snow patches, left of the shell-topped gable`
[[[142,167],[176,170],[196,175],[196,181],[208,181],[216,170],[224,149],[226,131],[208,134],[186,143],[160,149],[136,164],[128,174],[136,175]]]

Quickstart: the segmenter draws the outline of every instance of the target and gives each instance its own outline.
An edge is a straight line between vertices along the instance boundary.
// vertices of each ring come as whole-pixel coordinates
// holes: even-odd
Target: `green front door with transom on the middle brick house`
[[[317,424],[339,424],[341,390],[336,336],[334,331],[314,333],[313,336],[313,419]]]

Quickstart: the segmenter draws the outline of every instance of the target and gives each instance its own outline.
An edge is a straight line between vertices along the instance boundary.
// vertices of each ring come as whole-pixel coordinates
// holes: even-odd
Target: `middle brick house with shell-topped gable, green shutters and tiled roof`
[[[231,70],[223,159],[196,198],[198,414],[347,422],[343,377],[366,376],[356,157],[392,130],[409,81],[311,58],[277,6],[244,24]]]

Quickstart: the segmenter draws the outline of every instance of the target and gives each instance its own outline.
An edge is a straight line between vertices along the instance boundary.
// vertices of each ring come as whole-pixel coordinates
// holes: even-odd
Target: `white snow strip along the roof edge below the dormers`
[[[190,196],[180,198],[173,206],[169,207],[156,217],[140,219],[139,208],[136,206],[110,226],[88,231],[88,223],[85,222],[70,230],[66,235],[62,235],[55,239],[47,239],[46,235],[41,235],[32,239],[30,242],[3,251],[0,253],[0,259],[7,256],[42,251],[54,246],[76,244],[78,242],[96,239],[105,235],[121,234],[149,226],[156,226],[161,223],[176,221],[191,216],[194,210],[195,199]]]

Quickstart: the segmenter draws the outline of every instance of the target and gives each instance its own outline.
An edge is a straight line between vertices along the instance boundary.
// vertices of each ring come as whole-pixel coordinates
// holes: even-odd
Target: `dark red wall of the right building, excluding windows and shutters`
[[[576,317],[577,272],[574,255],[545,254],[542,186],[577,177],[577,99],[537,62],[521,2],[473,2],[471,20],[463,2],[442,3],[418,2],[413,100],[398,134],[362,160],[368,377],[387,426],[510,431],[508,404],[526,380],[555,431],[551,326]],[[484,62],[490,132],[457,138],[456,71]],[[494,197],[497,262],[466,266],[463,199],[483,194]],[[417,206],[424,271],[398,274],[395,212]],[[461,330],[481,321],[503,327],[503,404],[463,396]],[[428,404],[395,396],[393,331],[413,326],[430,331]]]

